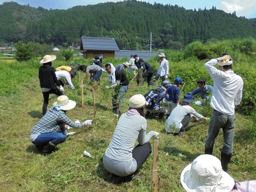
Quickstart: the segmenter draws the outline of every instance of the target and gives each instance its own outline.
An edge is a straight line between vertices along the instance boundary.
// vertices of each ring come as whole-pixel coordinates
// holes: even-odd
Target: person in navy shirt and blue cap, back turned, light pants
[[[177,77],[174,80],[174,84],[169,86],[168,89],[166,90],[164,94],[164,99],[167,100],[167,106],[168,106],[168,111],[166,114],[166,119],[168,116],[171,114],[172,110],[179,104],[180,102],[180,89],[179,86],[182,84],[182,79],[180,77]],[[167,97],[167,94],[169,95]]]

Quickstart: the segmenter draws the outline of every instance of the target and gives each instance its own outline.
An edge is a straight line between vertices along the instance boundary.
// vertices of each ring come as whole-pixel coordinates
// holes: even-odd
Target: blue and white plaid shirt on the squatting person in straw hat
[[[66,114],[62,110],[57,111],[56,108],[52,107],[40,119],[40,121],[37,122],[37,124],[34,126],[34,129],[31,132],[31,135],[54,133],[60,131],[63,134],[67,134],[65,124],[74,128],[81,128],[82,126],[84,126],[83,123],[74,123],[66,116]]]

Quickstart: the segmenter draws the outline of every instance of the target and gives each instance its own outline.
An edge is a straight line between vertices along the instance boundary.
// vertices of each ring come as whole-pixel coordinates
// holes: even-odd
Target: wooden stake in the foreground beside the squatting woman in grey
[[[153,154],[153,166],[152,166],[152,192],[156,191],[158,146],[159,146],[159,140],[154,140],[154,154]]]

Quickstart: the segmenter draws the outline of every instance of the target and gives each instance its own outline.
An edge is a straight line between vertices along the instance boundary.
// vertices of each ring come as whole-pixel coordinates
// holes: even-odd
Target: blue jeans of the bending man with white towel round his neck
[[[113,106],[113,112],[118,114],[118,102],[122,101],[122,107],[124,104],[124,96],[126,94],[126,91],[128,90],[128,85],[122,86],[121,88],[116,86],[114,90],[114,95],[112,98],[112,106]]]

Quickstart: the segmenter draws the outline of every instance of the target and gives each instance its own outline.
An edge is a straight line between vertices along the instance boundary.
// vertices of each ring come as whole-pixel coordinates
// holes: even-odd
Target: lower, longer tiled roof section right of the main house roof
[[[124,58],[127,57],[130,59],[131,55],[138,55],[139,58],[142,58],[143,60],[148,60],[152,58],[152,56],[155,56],[157,54],[156,51],[129,51],[129,50],[120,50],[115,52],[115,58]]]

